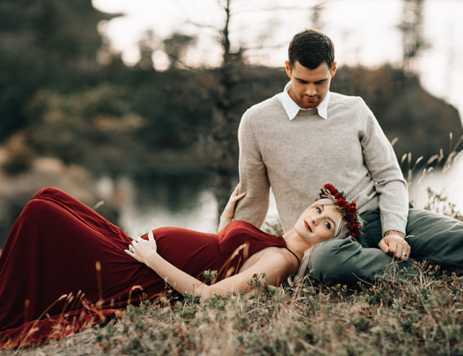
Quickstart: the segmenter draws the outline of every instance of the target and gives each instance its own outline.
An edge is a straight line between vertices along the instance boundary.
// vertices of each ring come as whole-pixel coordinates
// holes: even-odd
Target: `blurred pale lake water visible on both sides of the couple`
[[[410,201],[422,209],[429,201],[427,188],[447,197],[463,211],[463,157],[448,167],[422,172],[410,183]],[[123,192],[119,225],[130,235],[140,236],[160,226],[179,226],[208,233],[217,232],[217,201],[207,177],[151,177],[134,181],[120,178],[103,179],[102,189],[117,185]],[[278,218],[276,204],[271,199],[268,219]]]

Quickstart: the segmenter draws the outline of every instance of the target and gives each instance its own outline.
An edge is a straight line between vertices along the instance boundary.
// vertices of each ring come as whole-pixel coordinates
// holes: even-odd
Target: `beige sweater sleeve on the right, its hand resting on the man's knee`
[[[361,100],[361,99],[360,99]],[[407,182],[400,170],[395,152],[373,112],[361,100],[361,116],[365,118],[364,135],[360,137],[365,166],[375,181],[379,194],[380,219],[383,236],[389,230],[405,234],[408,216]],[[363,107],[363,108],[362,108]]]

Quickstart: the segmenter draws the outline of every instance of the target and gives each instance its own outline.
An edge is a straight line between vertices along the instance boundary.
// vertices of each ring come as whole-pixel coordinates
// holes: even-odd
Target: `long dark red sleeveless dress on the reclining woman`
[[[283,238],[244,221],[217,235],[176,227],[153,234],[162,257],[199,279],[207,270],[229,276],[263,248],[286,248]],[[39,191],[0,256],[0,348],[60,338],[165,293],[162,278],[124,252],[131,241],[65,192]]]

